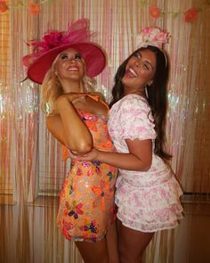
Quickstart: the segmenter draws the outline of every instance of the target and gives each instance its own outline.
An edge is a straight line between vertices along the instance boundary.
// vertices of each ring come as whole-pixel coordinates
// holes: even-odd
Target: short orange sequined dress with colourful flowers
[[[99,98],[96,98],[99,100]],[[113,152],[107,117],[77,111],[93,136],[94,148]],[[64,159],[68,150],[63,147]],[[73,160],[60,195],[58,224],[68,240],[97,242],[116,218],[114,187],[117,169],[100,161]]]

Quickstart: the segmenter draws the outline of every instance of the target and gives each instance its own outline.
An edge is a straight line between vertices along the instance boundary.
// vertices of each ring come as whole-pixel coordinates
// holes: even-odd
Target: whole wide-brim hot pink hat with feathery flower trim
[[[85,60],[86,75],[96,77],[106,66],[106,54],[100,45],[89,41],[91,36],[88,21],[83,19],[73,23],[66,33],[51,31],[44,35],[42,41],[32,41],[30,45],[34,46],[34,52],[22,59],[28,67],[28,78],[42,84],[57,55],[69,48],[81,53]]]

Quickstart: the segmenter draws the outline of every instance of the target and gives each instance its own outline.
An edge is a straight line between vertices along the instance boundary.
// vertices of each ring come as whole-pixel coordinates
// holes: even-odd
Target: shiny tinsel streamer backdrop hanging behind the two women
[[[166,129],[172,167],[186,200],[201,194],[209,201],[209,1],[36,1],[37,15],[29,14],[29,0],[5,2],[9,10],[0,14],[0,262],[82,262],[74,243],[64,241],[56,226],[69,162],[62,161],[61,145],[46,130],[40,86],[22,81],[26,69],[21,62],[31,51],[28,40],[41,38],[48,29],[66,30],[80,18],[90,20],[90,29],[97,32],[94,41],[108,54],[107,67],[96,78],[108,101],[117,67],[136,47],[136,34],[147,26],[170,32]],[[150,6],[162,10],[158,19],[149,15]],[[187,23],[184,12],[191,6],[200,8],[198,20]],[[175,261],[179,231],[156,234],[145,262],[181,262]]]

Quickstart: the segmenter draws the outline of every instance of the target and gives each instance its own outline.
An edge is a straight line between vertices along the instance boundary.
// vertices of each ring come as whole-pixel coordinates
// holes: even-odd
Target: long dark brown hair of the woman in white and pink
[[[125,96],[124,85],[122,78],[125,74],[125,67],[129,59],[135,54],[142,50],[149,49],[151,52],[156,54],[157,67],[153,82],[150,86],[147,86],[148,92],[148,103],[154,117],[155,130],[157,137],[155,139],[155,153],[163,160],[170,160],[171,155],[166,152],[166,111],[167,111],[167,81],[169,75],[169,62],[166,53],[160,50],[156,46],[149,45],[148,47],[141,47],[134,51],[126,60],[123,62],[115,76],[115,84],[112,89],[112,100],[109,106],[113,106],[117,101]]]

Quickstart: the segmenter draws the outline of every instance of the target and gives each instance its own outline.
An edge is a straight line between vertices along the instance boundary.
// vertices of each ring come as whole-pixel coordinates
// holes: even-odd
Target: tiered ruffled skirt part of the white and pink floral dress
[[[117,218],[124,226],[141,232],[174,228],[183,218],[182,189],[174,176],[160,185],[139,187],[125,177],[117,178]]]

